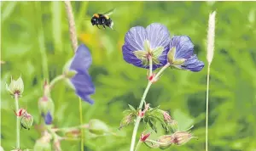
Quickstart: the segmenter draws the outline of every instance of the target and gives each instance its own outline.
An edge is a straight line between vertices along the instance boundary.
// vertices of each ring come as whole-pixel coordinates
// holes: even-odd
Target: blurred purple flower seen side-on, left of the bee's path
[[[82,44],[76,51],[69,67],[69,70],[76,71],[75,76],[70,79],[76,94],[88,103],[94,103],[90,98],[90,95],[95,93],[95,87],[88,74],[91,62],[90,51],[84,44]]]

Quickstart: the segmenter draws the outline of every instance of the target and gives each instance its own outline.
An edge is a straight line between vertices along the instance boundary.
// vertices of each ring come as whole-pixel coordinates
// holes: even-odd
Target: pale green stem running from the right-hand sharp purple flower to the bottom
[[[169,63],[167,63],[157,74],[156,76],[154,76],[154,78],[152,79],[152,81],[154,81],[155,79],[158,79],[161,75],[161,73],[166,70],[168,67],[170,66]],[[145,102],[145,98],[148,94],[148,90],[150,88],[150,86],[152,85],[152,82],[151,81],[148,81],[148,86],[146,87],[144,93],[143,93],[143,98],[141,100],[141,103],[139,105],[139,109],[141,109],[143,107],[143,103]],[[135,126],[134,126],[134,129],[133,129],[133,132],[132,132],[132,137],[131,137],[131,148],[130,148],[130,151],[133,151],[134,150],[134,146],[135,146],[135,142],[136,142],[136,136],[137,136],[137,129],[138,129],[138,126],[140,124],[140,121],[142,120],[142,118],[140,116],[137,116],[137,119],[136,119],[136,122],[135,122]]]

